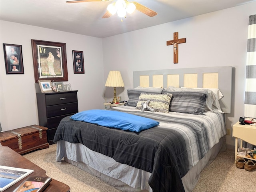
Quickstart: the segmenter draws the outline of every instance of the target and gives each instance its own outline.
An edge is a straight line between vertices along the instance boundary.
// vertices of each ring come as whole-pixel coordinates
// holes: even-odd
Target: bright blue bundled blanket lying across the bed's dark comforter
[[[100,126],[140,132],[157,126],[159,122],[150,118],[141,117],[118,111],[86,110],[72,115],[70,118],[77,121],[97,124]]]

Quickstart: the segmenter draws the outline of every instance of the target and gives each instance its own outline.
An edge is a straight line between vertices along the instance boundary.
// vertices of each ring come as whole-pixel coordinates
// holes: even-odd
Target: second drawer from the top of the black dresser
[[[71,114],[78,112],[78,104],[74,103],[66,103],[61,105],[52,105],[46,107],[47,118],[61,116],[65,114]]]

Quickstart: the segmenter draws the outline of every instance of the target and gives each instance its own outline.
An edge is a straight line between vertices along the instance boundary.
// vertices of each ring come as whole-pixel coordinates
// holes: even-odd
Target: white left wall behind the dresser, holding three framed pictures
[[[78,110],[104,108],[101,38],[2,20],[0,26],[0,122],[3,131],[38,124],[31,39],[66,43],[68,83],[72,90],[78,90]],[[22,45],[24,74],[6,74],[3,43]],[[74,74],[72,50],[84,52],[85,74]]]

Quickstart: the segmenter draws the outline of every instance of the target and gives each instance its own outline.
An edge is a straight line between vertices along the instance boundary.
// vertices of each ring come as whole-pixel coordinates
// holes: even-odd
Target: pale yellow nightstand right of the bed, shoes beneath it
[[[238,138],[241,139],[240,147],[242,147],[243,140],[250,144],[256,145],[256,126],[251,126],[248,124],[240,125],[239,122],[236,122],[236,124],[233,125],[233,135],[232,136],[236,138],[235,163],[236,163],[237,157],[242,157],[242,158],[251,159],[251,160],[255,161],[256,154],[254,154],[254,158],[251,158],[249,155],[238,156],[237,150],[238,150]]]

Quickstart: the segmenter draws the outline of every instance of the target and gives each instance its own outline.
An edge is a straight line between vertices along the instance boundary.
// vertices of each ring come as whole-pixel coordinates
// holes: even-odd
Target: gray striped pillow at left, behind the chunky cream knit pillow
[[[140,94],[161,94],[162,89],[127,89],[128,101],[126,105],[136,107]]]

